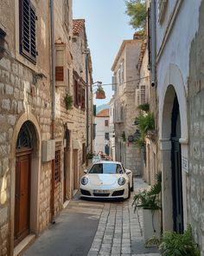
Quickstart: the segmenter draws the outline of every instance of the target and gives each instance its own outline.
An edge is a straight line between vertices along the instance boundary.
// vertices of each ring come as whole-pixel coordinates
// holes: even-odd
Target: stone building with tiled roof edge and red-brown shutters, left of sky
[[[79,177],[86,169],[86,154],[92,152],[92,60],[84,19],[73,20],[73,171],[79,162]],[[72,124],[68,124],[72,126]],[[78,144],[78,146],[77,146]],[[79,152],[78,150],[79,149]]]

